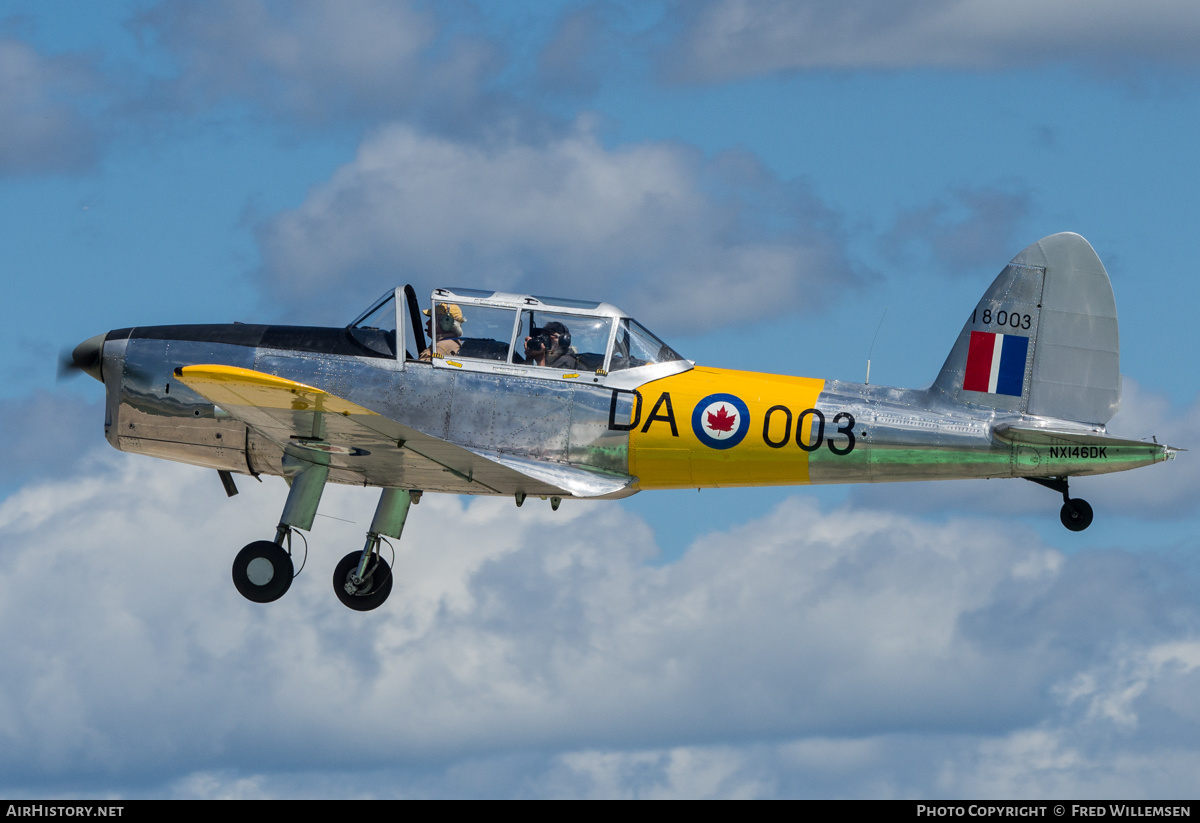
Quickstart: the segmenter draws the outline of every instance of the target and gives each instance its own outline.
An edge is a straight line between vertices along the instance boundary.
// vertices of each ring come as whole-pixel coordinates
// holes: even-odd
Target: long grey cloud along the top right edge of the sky
[[[1183,0],[708,0],[678,4],[670,74],[721,82],[778,71],[1195,66],[1200,14]]]

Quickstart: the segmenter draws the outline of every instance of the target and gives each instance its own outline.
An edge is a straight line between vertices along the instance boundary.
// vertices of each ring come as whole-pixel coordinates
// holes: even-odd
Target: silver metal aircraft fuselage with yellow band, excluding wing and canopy
[[[272,344],[263,346],[263,340]],[[314,386],[468,449],[608,475],[630,475],[631,462],[642,467],[630,485],[602,497],[694,486],[1080,476],[1147,465],[1171,455],[1152,443],[1110,438],[1092,443],[1103,429],[952,403],[934,389],[832,380],[823,382],[809,401],[797,397],[796,388],[786,383],[790,378],[703,370],[710,388],[724,390],[708,394],[744,397],[750,404],[744,423],[750,431],[739,444],[744,449],[714,451],[691,431],[698,392],[677,386],[678,373],[656,379],[647,374],[632,390],[613,389],[602,377],[564,380],[548,373],[514,376],[365,356],[352,348],[344,329],[240,324],[110,332],[103,355],[108,441],[121,451],[239,474],[287,474],[287,444],[176,379],[180,366],[200,364],[236,366]],[[682,374],[688,371],[692,370]],[[670,413],[664,398],[671,401]],[[655,404],[658,419],[648,421]],[[630,426],[636,407],[641,419]],[[806,409],[815,412],[799,420]],[[844,416],[836,420],[839,415]],[[1061,437],[1015,440],[1004,437],[1006,425],[1037,426]],[[511,493],[474,482],[462,476],[466,473],[406,459],[403,446],[391,455],[332,453],[329,464],[332,482]],[[533,481],[527,492],[562,494]]]

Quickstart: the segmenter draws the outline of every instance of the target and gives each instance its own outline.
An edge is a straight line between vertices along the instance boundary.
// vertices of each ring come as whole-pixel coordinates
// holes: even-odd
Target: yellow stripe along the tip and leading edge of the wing
[[[236,366],[181,366],[175,378],[217,406],[252,406],[260,409],[374,415],[371,409],[342,400],[314,386]]]

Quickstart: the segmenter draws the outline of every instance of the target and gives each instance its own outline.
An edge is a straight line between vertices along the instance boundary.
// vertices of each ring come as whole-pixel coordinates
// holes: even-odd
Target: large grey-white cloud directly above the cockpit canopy
[[[745,155],[607,149],[586,128],[491,145],[379,130],[259,241],[276,295],[346,313],[416,276],[608,300],[695,330],[811,310],[860,281],[803,185]]]

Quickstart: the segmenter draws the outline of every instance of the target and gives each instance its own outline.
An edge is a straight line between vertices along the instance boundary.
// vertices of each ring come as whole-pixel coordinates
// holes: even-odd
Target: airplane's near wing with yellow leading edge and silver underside
[[[466,449],[314,386],[248,368],[182,366],[175,377],[280,452],[328,463],[330,480],[340,482],[456,494],[600,497],[634,480]]]

